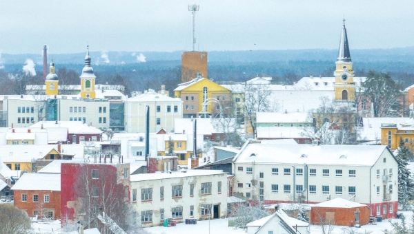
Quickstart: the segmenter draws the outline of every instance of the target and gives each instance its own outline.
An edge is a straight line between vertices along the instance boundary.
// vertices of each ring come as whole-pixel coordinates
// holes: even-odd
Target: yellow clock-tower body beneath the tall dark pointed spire
[[[336,70],[333,72],[333,75],[335,76],[335,100],[352,102],[355,100],[352,62],[338,61],[335,65]]]

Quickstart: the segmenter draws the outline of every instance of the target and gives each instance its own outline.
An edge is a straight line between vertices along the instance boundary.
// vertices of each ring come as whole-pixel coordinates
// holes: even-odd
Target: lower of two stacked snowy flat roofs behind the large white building
[[[309,138],[303,127],[257,127],[257,138]]]

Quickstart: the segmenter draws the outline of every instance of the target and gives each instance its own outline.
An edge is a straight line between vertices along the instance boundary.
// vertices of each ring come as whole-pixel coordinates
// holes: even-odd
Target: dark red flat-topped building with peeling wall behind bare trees
[[[130,199],[129,164],[107,158],[99,163],[61,165],[61,217],[65,222],[96,222],[105,212],[117,222],[126,215],[124,204]],[[108,163],[106,163],[108,162]],[[91,227],[99,224],[92,224]]]

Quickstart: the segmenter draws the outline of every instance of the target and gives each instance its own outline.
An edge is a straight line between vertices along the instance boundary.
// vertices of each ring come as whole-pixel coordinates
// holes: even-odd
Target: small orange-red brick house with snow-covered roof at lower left
[[[61,177],[55,173],[24,173],[12,187],[14,206],[30,217],[61,218]]]

